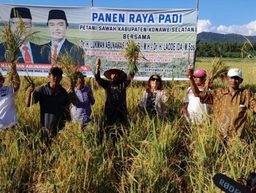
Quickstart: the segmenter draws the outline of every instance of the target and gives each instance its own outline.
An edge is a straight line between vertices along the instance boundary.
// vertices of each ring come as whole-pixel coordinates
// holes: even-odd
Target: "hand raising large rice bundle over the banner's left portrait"
[[[10,68],[7,72],[7,79],[11,84],[16,84],[17,80],[13,76],[14,67],[16,66],[19,57],[17,54],[20,51],[20,46],[23,45],[24,41],[29,37],[34,35],[37,32],[29,33],[26,29],[22,18],[19,16],[19,12],[15,12],[15,17],[19,18],[18,26],[15,28],[15,31],[11,30],[12,23],[9,21],[2,30],[2,39],[5,41],[3,44],[5,46],[5,58],[6,62],[10,63]]]

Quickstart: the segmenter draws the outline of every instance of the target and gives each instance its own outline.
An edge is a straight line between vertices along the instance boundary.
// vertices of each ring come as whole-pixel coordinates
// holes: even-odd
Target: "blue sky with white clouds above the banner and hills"
[[[94,7],[175,9],[196,8],[197,0],[94,0]],[[91,0],[1,0],[1,3],[90,7]],[[256,36],[256,0],[199,0],[198,33]]]

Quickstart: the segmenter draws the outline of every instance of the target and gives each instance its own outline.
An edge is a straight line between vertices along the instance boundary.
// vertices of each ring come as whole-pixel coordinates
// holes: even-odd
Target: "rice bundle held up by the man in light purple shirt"
[[[73,47],[73,48],[77,49],[76,47]],[[80,68],[80,65],[79,65],[80,57],[82,57],[81,54],[77,52],[77,56],[74,59],[70,55],[70,53],[67,50],[65,50],[64,54],[59,53],[58,61],[57,61],[58,66],[62,68],[63,74],[69,79],[69,82],[71,84],[72,89],[69,90],[69,100],[74,105],[77,104],[75,86],[76,86],[77,79],[80,76],[80,74],[78,73]]]

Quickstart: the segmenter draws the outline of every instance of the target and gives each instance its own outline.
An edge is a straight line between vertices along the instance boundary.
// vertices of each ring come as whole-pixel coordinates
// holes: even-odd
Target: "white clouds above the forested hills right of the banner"
[[[197,33],[200,33],[202,31],[206,32],[215,32],[215,33],[236,33],[246,36],[256,36],[256,20],[251,21],[250,23],[246,25],[230,25],[230,26],[224,26],[220,25],[218,27],[212,26],[210,20],[198,20],[197,25]]]

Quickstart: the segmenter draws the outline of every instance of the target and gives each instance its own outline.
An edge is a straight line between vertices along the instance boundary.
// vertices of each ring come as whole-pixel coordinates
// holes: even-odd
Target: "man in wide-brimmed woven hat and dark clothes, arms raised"
[[[134,77],[133,73],[127,74],[118,68],[105,71],[104,76],[109,80],[102,79],[99,73],[101,61],[96,61],[95,78],[101,87],[105,89],[105,115],[108,125],[124,122],[127,115],[126,87]]]

